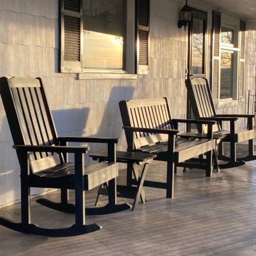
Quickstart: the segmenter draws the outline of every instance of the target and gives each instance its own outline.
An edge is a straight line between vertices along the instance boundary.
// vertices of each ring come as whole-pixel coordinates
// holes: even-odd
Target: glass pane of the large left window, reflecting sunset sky
[[[122,69],[123,1],[83,0],[83,67]]]

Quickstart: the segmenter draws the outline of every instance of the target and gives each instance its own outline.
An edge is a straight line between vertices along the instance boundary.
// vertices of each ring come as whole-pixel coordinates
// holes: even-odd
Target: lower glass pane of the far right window
[[[232,97],[233,52],[221,51],[220,58],[220,98]]]

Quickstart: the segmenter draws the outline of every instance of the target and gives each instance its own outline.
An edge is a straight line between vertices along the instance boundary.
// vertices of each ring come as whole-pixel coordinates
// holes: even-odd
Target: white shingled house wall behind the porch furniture
[[[0,77],[42,77],[58,135],[121,137],[117,149],[126,150],[120,100],[167,96],[172,116],[185,118],[187,37],[184,29],[177,27],[183,4],[151,0],[148,75],[79,80],[77,74],[58,73],[58,0],[0,0]],[[208,13],[210,16],[211,10]],[[208,77],[210,29],[208,22]],[[247,32],[246,36],[245,86],[254,90],[256,33]],[[244,113],[245,107],[246,93],[241,100],[219,107],[218,112]],[[12,144],[0,101],[0,207],[20,199],[19,164]],[[90,148],[93,152],[104,145]],[[87,154],[85,163],[91,162]],[[33,188],[31,194],[45,191]]]

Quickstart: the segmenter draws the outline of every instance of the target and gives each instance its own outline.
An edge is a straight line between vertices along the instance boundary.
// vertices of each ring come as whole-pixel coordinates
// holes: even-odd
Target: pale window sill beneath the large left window
[[[108,70],[105,72],[101,70],[86,70],[83,73],[78,73],[78,80],[89,79],[137,79],[136,74],[129,74],[125,71]]]

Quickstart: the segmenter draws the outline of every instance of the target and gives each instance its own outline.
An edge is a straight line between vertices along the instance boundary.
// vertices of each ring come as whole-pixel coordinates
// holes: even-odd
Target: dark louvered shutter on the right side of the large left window
[[[136,1],[137,13],[137,73],[147,74],[148,69],[148,52],[149,52],[149,0]]]

